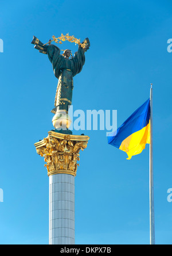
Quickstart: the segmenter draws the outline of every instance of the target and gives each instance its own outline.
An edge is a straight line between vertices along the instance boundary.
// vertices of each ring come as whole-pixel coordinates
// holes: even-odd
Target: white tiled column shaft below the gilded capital
[[[49,176],[49,244],[75,244],[75,177]]]

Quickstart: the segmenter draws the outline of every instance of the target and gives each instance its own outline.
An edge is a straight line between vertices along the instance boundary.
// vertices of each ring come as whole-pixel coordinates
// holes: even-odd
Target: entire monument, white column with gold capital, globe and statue
[[[68,110],[72,105],[73,77],[79,74],[85,63],[85,52],[90,47],[88,37],[83,43],[74,36],[52,36],[53,40],[43,44],[33,36],[32,44],[42,54],[48,55],[53,72],[58,79],[52,123],[54,130],[48,137],[35,143],[37,153],[44,156],[49,176],[49,244],[75,243],[75,176],[79,151],[87,147],[88,136],[72,135],[69,130],[71,118]],[[59,41],[60,40],[60,41]],[[69,49],[61,55],[61,50],[52,41],[78,44],[78,50],[72,56]]]

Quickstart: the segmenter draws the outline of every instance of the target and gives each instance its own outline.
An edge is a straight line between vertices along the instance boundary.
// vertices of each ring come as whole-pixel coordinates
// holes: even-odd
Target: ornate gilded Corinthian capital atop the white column
[[[34,144],[37,154],[44,156],[48,176],[58,173],[76,176],[79,152],[87,147],[88,136],[65,135],[50,131],[48,137]]]

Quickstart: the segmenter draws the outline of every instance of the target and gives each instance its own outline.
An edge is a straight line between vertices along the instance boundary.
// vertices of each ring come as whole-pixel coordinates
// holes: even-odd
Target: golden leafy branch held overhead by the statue
[[[84,40],[83,43],[80,43],[80,39],[77,39],[75,36],[69,36],[69,33],[67,33],[67,35],[63,35],[61,33],[60,37],[52,36],[52,38],[53,40],[49,40],[46,44],[50,44],[52,41],[56,42],[57,44],[62,44],[62,41],[69,41],[71,43],[75,43],[75,45],[80,45],[82,48],[85,48],[87,46],[87,40]]]

